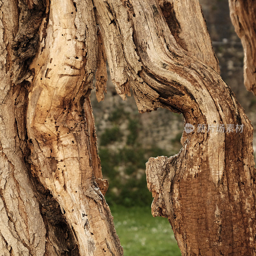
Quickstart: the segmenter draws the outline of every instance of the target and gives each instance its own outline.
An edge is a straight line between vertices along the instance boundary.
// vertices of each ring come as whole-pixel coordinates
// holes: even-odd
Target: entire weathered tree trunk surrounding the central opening
[[[180,153],[150,158],[146,173],[152,214],[168,218],[183,256],[256,255],[252,125],[219,75],[198,0],[0,7],[4,256],[123,255],[88,98],[97,68],[104,99],[106,58],[117,92],[125,99],[131,88],[141,113],[161,107],[195,127],[244,125],[184,132]]]

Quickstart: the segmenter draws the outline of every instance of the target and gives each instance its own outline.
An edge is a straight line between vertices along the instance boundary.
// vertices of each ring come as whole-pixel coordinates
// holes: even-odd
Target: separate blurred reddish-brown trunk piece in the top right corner
[[[244,85],[256,95],[256,2],[228,0],[230,17],[244,48]]]

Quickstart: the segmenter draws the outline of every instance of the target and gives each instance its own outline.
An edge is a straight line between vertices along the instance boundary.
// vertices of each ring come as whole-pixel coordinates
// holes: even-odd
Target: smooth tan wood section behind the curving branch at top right
[[[220,74],[199,0],[159,0],[159,5],[176,42]]]

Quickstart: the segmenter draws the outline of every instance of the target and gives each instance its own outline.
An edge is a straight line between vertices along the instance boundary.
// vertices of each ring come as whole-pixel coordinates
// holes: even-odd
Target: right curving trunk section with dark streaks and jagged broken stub
[[[177,14],[175,35],[155,0],[94,4],[111,78],[122,98],[130,86],[140,112],[167,108],[183,113],[195,127],[244,124],[243,133],[191,132],[178,155],[151,158],[147,180],[155,196],[153,215],[168,218],[183,256],[256,255],[252,125],[214,71],[218,62],[198,1],[187,4],[186,15]],[[185,5],[172,1],[172,7],[165,17],[174,19]],[[194,39],[199,33],[190,20],[194,16],[203,20],[205,38]],[[176,41],[182,29],[191,32]],[[199,40],[202,54],[190,40]]]

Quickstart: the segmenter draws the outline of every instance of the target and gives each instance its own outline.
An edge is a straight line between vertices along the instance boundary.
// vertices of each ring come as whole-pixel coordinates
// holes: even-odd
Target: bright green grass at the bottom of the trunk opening
[[[124,256],[181,256],[171,225],[150,207],[110,206]]]

